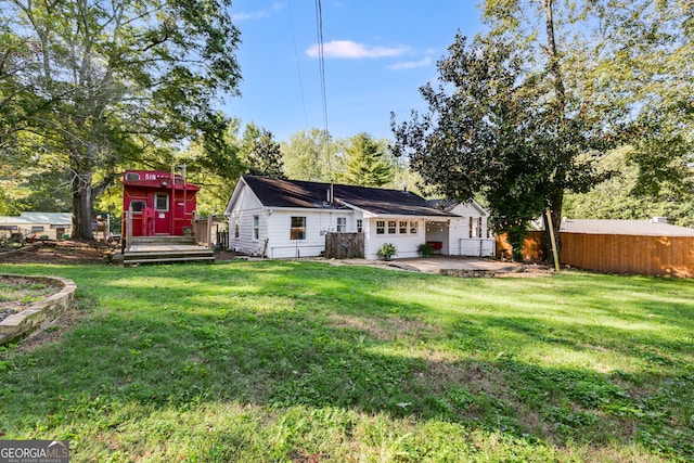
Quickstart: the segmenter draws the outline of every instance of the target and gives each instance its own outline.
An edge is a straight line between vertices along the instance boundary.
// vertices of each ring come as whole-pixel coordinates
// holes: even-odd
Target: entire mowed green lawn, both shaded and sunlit
[[[78,285],[72,330],[0,353],[0,439],[69,439],[70,461],[694,459],[689,280],[308,261],[2,271]]]

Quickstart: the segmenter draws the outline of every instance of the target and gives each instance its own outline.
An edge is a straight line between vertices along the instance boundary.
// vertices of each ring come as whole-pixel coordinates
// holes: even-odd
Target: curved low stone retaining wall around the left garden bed
[[[0,346],[20,340],[55,320],[73,304],[77,285],[59,276],[33,276],[0,274],[8,278],[30,279],[55,285],[61,290],[38,303],[31,304],[20,313],[0,321]]]

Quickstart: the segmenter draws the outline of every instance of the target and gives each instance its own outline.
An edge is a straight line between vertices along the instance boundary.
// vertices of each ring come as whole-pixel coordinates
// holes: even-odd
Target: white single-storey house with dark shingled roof
[[[368,259],[384,243],[400,258],[416,257],[425,242],[441,254],[493,255],[493,239],[480,245],[487,213],[476,203],[455,208],[460,214],[407,191],[243,176],[226,215],[231,249],[270,258],[319,256],[327,232],[363,233]]]

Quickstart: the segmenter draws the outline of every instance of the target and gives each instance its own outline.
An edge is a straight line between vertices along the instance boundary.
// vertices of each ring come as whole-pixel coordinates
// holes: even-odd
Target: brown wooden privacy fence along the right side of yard
[[[543,232],[531,232],[523,256],[540,260]],[[560,233],[560,262],[605,273],[694,278],[694,236]],[[511,246],[501,235],[498,257]]]

